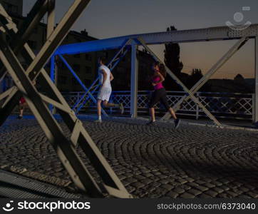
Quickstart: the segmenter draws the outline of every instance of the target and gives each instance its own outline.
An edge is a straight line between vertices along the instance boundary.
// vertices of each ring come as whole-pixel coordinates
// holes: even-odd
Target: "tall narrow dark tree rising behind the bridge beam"
[[[177,31],[177,29],[175,26],[170,26],[167,31]],[[165,44],[164,61],[167,68],[170,68],[177,78],[181,78],[183,63],[180,61],[180,46],[177,43]],[[167,76],[164,85],[167,90],[180,90],[180,87],[175,85],[175,81],[172,81],[170,76]]]

